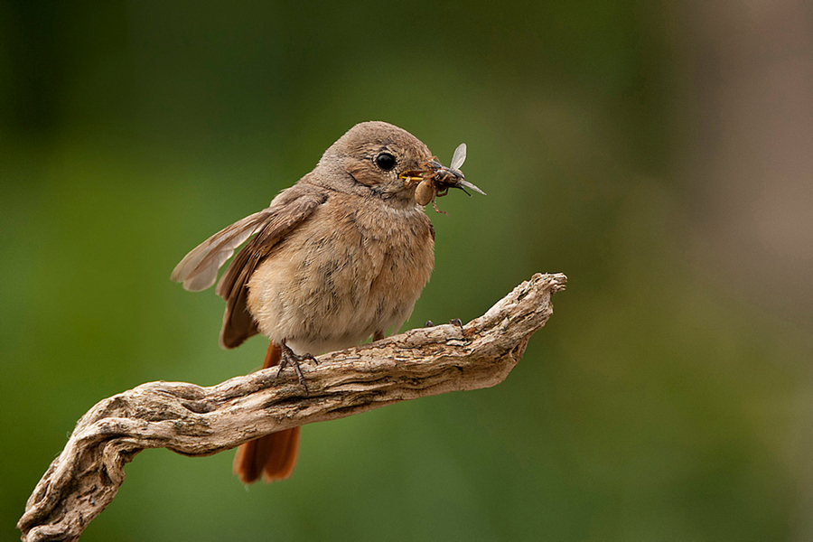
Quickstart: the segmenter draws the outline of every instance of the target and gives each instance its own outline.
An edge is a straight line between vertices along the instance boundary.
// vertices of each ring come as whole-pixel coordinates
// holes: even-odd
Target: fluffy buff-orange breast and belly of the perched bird
[[[423,210],[332,196],[257,267],[248,311],[260,332],[299,350],[358,344],[406,321],[435,265],[434,246]]]

